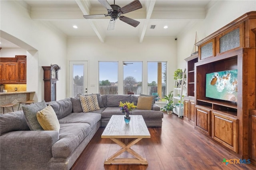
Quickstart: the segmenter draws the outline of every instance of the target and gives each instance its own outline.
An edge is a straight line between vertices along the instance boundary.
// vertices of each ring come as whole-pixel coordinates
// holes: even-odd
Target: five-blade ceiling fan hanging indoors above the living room
[[[104,16],[105,17],[110,16],[111,19],[108,24],[107,30],[114,30],[114,26],[115,26],[115,22],[116,22],[117,18],[119,18],[119,20],[121,20],[122,22],[125,22],[133,27],[136,27],[140,24],[140,22],[138,22],[132,18],[128,18],[126,16],[121,16],[122,14],[126,14],[128,12],[132,12],[134,10],[138,10],[138,9],[142,8],[142,4],[140,3],[139,0],[134,0],[130,4],[127,4],[126,6],[124,6],[122,8],[115,4],[115,0],[114,0],[113,5],[108,4],[107,0],[98,0],[98,1],[108,10],[108,14],[84,15],[85,19],[101,18]]]

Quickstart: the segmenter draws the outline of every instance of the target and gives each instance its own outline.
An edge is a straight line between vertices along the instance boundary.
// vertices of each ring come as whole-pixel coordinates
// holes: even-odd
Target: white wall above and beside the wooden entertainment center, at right
[[[200,41],[246,12],[256,11],[256,0],[220,0],[210,3],[213,6],[206,9],[205,19],[178,36],[177,58],[180,68],[186,66],[184,59],[191,55],[196,32]]]

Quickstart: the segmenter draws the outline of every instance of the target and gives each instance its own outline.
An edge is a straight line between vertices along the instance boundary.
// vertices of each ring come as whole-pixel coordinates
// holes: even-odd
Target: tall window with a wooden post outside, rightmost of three
[[[148,95],[156,95],[156,101],[166,95],[166,62],[148,62]]]

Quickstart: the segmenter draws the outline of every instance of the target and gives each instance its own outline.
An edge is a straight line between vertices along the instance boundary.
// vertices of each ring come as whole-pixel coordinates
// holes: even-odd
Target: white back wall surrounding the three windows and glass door
[[[168,92],[173,89],[173,72],[176,70],[176,41],[174,38],[68,38],[68,60],[88,60],[88,93],[98,92],[98,61],[119,61],[118,82],[122,82],[122,61],[143,61],[143,93],[147,87],[147,61],[167,61]],[[95,87],[90,87],[94,86]],[[122,87],[122,84],[119,83]],[[122,93],[122,90],[120,94]]]

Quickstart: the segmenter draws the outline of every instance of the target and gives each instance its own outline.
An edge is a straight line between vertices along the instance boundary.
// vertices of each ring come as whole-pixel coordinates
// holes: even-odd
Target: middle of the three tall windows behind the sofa
[[[124,94],[139,95],[142,93],[142,62],[123,62]]]

